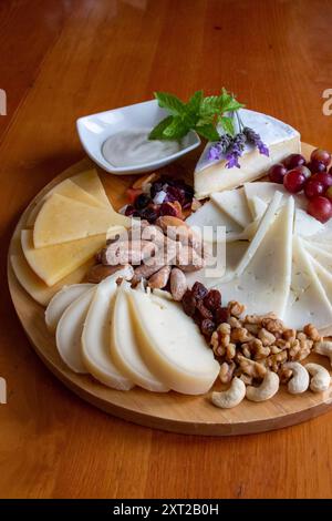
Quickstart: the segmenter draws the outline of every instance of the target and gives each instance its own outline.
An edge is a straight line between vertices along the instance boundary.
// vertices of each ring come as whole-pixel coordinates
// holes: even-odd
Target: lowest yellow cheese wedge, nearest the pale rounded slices
[[[27,263],[22,253],[20,255],[12,255],[10,262],[13,273],[15,274],[15,277],[21,286],[35,302],[42,306],[46,306],[51,298],[58,292],[60,292],[63,286],[81,283],[90,266],[93,264],[93,260],[87,260],[87,263],[83,264],[70,275],[59,280],[59,283],[54,284],[54,286],[50,287],[35,275],[35,273]]]

